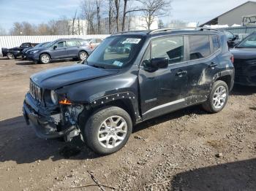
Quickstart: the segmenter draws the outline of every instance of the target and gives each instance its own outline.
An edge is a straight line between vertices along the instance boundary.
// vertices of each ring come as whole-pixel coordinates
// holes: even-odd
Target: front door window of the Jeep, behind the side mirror
[[[184,61],[183,36],[170,36],[151,42],[151,58],[167,58],[169,64]]]

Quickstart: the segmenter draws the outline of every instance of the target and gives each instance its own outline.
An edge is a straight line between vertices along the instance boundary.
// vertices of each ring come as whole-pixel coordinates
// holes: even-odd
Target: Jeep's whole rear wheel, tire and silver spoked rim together
[[[222,80],[214,82],[208,100],[202,105],[203,109],[210,113],[217,113],[222,111],[222,109],[227,104],[228,95],[228,87],[225,82]]]

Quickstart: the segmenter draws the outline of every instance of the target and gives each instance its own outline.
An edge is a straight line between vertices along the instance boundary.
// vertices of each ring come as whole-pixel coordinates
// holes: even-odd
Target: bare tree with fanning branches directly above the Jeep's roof
[[[170,0],[138,0],[143,6],[143,17],[149,30],[157,17],[163,17],[170,12]]]

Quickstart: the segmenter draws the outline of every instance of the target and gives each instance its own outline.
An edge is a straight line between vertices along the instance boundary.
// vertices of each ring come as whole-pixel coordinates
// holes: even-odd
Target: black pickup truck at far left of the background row
[[[25,42],[25,43],[22,43],[20,45],[20,47],[13,47],[13,48],[10,48],[10,49],[1,48],[1,53],[2,53],[3,57],[7,56],[7,58],[9,58],[9,59],[14,59],[14,58],[17,58],[19,56],[22,56],[22,51],[25,48],[35,47],[37,44],[38,43]]]

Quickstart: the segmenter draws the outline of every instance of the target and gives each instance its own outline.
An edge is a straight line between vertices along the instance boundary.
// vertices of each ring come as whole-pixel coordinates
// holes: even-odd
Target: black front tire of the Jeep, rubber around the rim
[[[102,146],[102,143],[98,140],[99,129],[102,128],[102,123],[109,117],[118,116],[122,117],[127,123],[127,133],[124,135],[124,139],[113,148],[106,148]],[[130,134],[132,133],[132,120],[129,114],[117,106],[108,106],[103,109],[99,109],[94,112],[86,122],[86,126],[83,130],[87,145],[100,155],[110,155],[113,152],[117,152],[119,149],[127,144]],[[107,133],[108,134],[108,133]],[[110,135],[111,137],[111,135]],[[113,140],[113,139],[112,139]],[[110,140],[109,140],[110,141]]]

